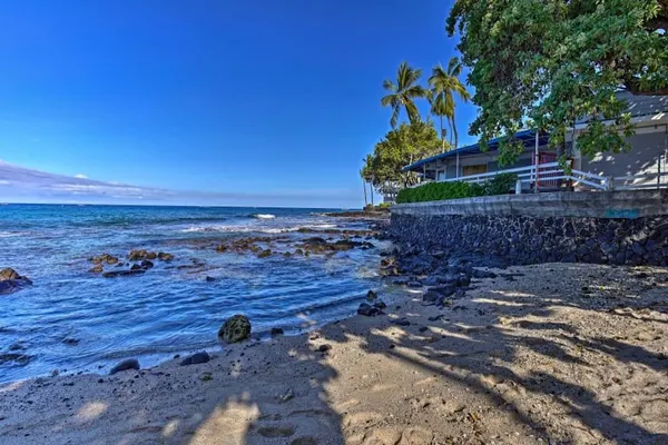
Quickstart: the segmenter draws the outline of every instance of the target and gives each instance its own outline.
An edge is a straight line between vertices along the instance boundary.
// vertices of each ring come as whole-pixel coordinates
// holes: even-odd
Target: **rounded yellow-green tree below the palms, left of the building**
[[[401,169],[440,151],[441,140],[431,121],[402,122],[375,145],[373,155],[364,161],[362,177],[381,191],[384,187],[410,186],[415,184],[415,175]]]

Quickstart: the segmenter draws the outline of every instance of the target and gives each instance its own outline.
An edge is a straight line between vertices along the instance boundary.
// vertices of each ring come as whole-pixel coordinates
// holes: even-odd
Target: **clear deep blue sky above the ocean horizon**
[[[402,60],[425,73],[448,62],[449,9],[436,0],[6,2],[0,199],[360,207],[361,160],[390,129],[382,81]],[[473,140],[474,113],[458,107],[461,142]],[[46,179],[12,181],[12,168],[170,195],[52,195]]]

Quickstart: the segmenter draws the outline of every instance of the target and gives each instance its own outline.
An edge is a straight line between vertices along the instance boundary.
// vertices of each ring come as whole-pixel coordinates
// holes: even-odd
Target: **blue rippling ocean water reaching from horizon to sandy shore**
[[[218,243],[282,237],[275,249],[314,230],[365,226],[323,216],[322,209],[140,206],[0,206],[0,268],[33,286],[0,296],[0,354],[30,356],[0,363],[0,382],[61,373],[105,372],[126,357],[148,366],[177,353],[216,349],[216,333],[234,314],[258,335],[272,327],[298,333],[353,314],[379,285],[377,248],[324,256],[259,259],[219,254]],[[376,246],[379,243],[372,241]],[[380,246],[381,247],[381,246]],[[125,258],[131,249],[174,254],[146,274],[104,278],[88,271],[91,256]],[[202,268],[181,268],[193,259]],[[114,266],[106,269],[114,269]],[[206,277],[215,281],[206,281]],[[75,344],[78,342],[77,344]],[[18,345],[17,345],[18,344]]]

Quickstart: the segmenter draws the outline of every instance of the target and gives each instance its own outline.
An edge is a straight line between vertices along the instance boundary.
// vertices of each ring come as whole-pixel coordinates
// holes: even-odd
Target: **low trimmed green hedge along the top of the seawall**
[[[462,181],[429,182],[424,186],[401,190],[396,196],[396,204],[504,195],[514,188],[517,180],[517,175],[501,174],[482,184]]]

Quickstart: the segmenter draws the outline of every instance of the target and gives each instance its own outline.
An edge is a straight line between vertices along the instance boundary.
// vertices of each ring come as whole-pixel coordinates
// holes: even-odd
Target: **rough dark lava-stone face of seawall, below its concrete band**
[[[666,216],[615,219],[393,211],[389,235],[404,248],[477,254],[507,265],[668,265]]]

